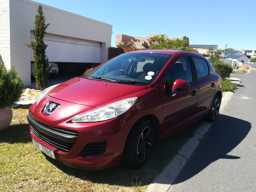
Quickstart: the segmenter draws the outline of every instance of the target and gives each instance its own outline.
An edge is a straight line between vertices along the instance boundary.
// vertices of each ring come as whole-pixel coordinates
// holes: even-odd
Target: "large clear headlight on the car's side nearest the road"
[[[136,100],[137,97],[132,97],[93,109],[75,117],[71,122],[96,122],[113,119],[128,111],[134,105]]]

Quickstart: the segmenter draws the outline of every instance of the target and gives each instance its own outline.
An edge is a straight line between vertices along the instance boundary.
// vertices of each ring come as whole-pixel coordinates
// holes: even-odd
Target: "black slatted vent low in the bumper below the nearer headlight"
[[[103,154],[107,147],[107,140],[87,143],[78,156],[94,156]]]

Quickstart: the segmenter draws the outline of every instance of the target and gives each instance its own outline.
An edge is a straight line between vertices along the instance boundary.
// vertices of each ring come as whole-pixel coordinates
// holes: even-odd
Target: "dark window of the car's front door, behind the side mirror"
[[[188,83],[193,81],[188,57],[182,57],[174,63],[164,79],[164,82],[167,84],[165,90],[172,88],[172,84],[177,79],[183,79]]]

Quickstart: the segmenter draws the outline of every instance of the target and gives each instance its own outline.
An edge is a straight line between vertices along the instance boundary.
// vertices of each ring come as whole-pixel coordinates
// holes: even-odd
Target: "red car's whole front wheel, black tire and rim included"
[[[149,120],[142,120],[132,127],[125,142],[122,158],[124,165],[140,168],[147,162],[152,149],[153,133],[153,125]]]

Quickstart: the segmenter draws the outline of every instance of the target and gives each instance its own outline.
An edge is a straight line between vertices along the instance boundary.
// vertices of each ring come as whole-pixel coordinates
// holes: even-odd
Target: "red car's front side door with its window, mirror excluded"
[[[198,98],[198,87],[192,74],[189,57],[184,55],[174,61],[172,68],[167,72],[165,77],[161,79],[160,95],[163,102],[164,120],[160,135],[168,134],[194,118]],[[188,81],[190,89],[177,91],[176,95],[170,98],[172,85],[177,79]],[[163,89],[164,83],[166,83],[165,90]]]

